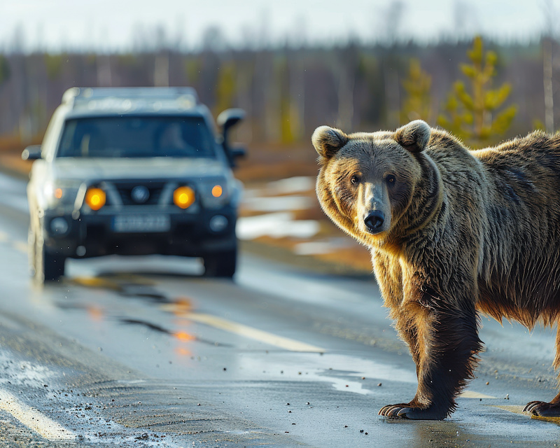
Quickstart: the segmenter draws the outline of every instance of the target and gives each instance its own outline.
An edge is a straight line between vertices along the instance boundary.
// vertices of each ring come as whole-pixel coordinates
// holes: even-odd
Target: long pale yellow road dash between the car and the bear
[[[286,349],[289,351],[325,353],[325,349],[322,349],[321,347],[305,344],[304,342],[289,339],[288,337],[273,335],[272,333],[269,333],[267,331],[258,330],[257,328],[252,328],[241,323],[228,321],[227,319],[218,316],[212,316],[211,314],[189,313],[181,311],[177,312],[178,310],[176,307],[174,307],[174,305],[163,305],[162,307],[164,309],[167,309],[168,311],[173,311],[176,316],[186,318],[189,321],[204,323],[220,330],[225,330],[235,333],[236,335],[255,339],[259,342],[265,342],[265,344],[280,347],[281,349]]]

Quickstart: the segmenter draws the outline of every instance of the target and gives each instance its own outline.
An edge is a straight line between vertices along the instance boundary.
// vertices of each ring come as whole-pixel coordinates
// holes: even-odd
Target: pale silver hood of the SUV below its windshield
[[[59,158],[52,163],[52,178],[59,180],[174,179],[224,176],[220,160],[209,158]]]

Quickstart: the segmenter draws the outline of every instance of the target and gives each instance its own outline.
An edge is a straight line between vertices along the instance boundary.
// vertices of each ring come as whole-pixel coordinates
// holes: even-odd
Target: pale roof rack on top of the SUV
[[[190,109],[199,103],[193,87],[71,87],[62,95],[71,109]]]

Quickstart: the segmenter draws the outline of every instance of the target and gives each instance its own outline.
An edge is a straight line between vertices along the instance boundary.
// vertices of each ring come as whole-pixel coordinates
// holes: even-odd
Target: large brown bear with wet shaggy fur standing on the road
[[[560,135],[471,151],[416,120],[349,135],[322,126],[312,141],[321,207],[370,248],[416,363],[414,398],[379,414],[444,419],[482,349],[477,312],[528,328],[560,318]],[[560,416],[560,393],[524,410]]]

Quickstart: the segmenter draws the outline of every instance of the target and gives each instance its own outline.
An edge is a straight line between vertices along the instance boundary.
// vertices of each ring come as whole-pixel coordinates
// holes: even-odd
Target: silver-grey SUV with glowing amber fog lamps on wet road
[[[38,281],[64,275],[66,258],[168,254],[202,257],[206,275],[231,277],[243,150],[228,131],[244,116],[218,116],[195,90],[67,90],[31,167],[30,262]]]

